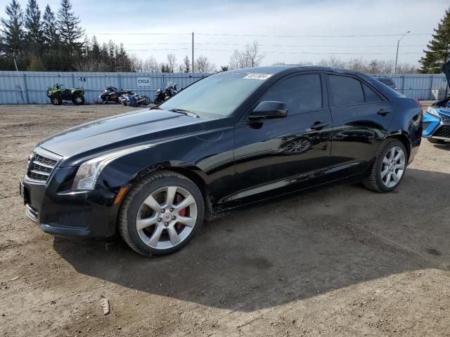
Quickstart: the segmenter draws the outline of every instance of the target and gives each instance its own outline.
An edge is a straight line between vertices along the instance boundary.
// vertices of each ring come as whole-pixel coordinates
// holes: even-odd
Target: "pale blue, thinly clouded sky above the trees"
[[[6,1],[0,3],[1,16]],[[27,0],[19,2],[25,8]],[[60,3],[37,2],[42,11],[47,3],[57,11]],[[194,32],[195,58],[207,56],[217,67],[228,65],[233,51],[253,41],[265,54],[262,65],[314,63],[330,55],[341,60],[394,60],[397,40],[408,31],[400,43],[399,62],[418,65],[430,34],[450,8],[448,0],[73,0],[72,4],[88,37],[123,43],[139,58],[153,55],[165,61],[167,53],[174,53],[181,62],[185,55],[191,58]]]

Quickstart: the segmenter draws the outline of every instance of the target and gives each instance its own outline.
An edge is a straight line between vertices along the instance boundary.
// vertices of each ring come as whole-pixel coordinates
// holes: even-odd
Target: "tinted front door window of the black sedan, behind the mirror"
[[[305,74],[281,79],[266,91],[260,102],[275,100],[288,105],[289,114],[299,114],[322,107],[322,86],[319,74]]]

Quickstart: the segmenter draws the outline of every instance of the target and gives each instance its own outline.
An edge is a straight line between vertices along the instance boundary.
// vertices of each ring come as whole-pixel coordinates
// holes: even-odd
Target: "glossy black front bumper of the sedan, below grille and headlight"
[[[111,237],[115,234],[119,204],[117,191],[65,189],[74,168],[56,168],[49,181],[37,183],[25,176],[23,199],[28,218],[46,233],[63,237]]]

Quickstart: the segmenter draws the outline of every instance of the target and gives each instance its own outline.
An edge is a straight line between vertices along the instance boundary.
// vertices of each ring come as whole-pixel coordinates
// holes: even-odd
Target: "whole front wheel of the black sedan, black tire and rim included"
[[[156,171],[124,198],[118,230],[136,253],[166,255],[193,239],[204,214],[203,196],[191,180],[172,171]]]

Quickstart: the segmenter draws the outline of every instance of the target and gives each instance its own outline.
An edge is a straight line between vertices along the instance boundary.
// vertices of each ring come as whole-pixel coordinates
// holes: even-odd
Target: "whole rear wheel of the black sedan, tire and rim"
[[[378,150],[371,175],[363,181],[363,185],[375,192],[394,190],[404,177],[407,162],[403,143],[397,139],[386,140]]]

